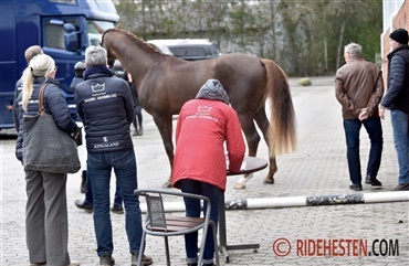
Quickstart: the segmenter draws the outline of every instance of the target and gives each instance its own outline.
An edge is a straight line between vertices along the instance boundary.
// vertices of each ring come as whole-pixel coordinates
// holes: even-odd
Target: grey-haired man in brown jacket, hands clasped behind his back
[[[346,64],[337,71],[335,77],[335,95],[343,108],[349,179],[353,183],[349,189],[355,191],[363,190],[359,159],[361,125],[370,139],[365,183],[382,185],[376,175],[384,145],[378,113],[378,105],[384,95],[384,79],[379,67],[363,58],[361,50],[356,43],[345,46]]]

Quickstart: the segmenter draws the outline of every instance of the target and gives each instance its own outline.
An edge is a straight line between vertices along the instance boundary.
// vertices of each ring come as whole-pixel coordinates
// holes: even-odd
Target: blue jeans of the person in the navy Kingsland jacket
[[[94,192],[94,230],[98,256],[111,256],[114,251],[109,214],[112,168],[124,198],[125,228],[130,253],[138,253],[141,240],[139,198],[134,195],[134,190],[138,188],[134,150],[88,153],[87,175]]]

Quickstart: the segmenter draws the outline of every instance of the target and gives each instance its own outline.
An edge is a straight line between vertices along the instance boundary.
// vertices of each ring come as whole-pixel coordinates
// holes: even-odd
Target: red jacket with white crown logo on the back
[[[224,146],[226,141],[226,146]],[[238,115],[221,100],[192,99],[180,110],[176,128],[172,185],[182,179],[198,180],[226,190],[227,163],[239,171],[245,145]]]

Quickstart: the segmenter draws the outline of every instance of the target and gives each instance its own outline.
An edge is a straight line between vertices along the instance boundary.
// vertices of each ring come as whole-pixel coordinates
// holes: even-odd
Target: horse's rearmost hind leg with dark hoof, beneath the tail
[[[261,108],[256,114],[255,114],[255,123],[258,124],[260,130],[263,132],[263,136],[264,136],[264,140],[269,147],[269,161],[270,161],[270,168],[269,168],[269,173],[268,175],[265,177],[264,179],[264,183],[274,183],[274,173],[277,171],[277,164],[276,164],[276,160],[275,160],[275,155],[274,155],[274,150],[273,147],[270,147],[270,142],[269,142],[269,135],[268,135],[268,130],[269,130],[269,127],[270,127],[270,121],[265,115],[265,110],[264,108]]]

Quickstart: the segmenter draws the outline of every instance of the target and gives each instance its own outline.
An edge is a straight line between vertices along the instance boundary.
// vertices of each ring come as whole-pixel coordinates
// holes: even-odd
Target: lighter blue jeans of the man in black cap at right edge
[[[409,182],[409,115],[398,109],[390,110],[395,149],[398,155],[399,183]]]

